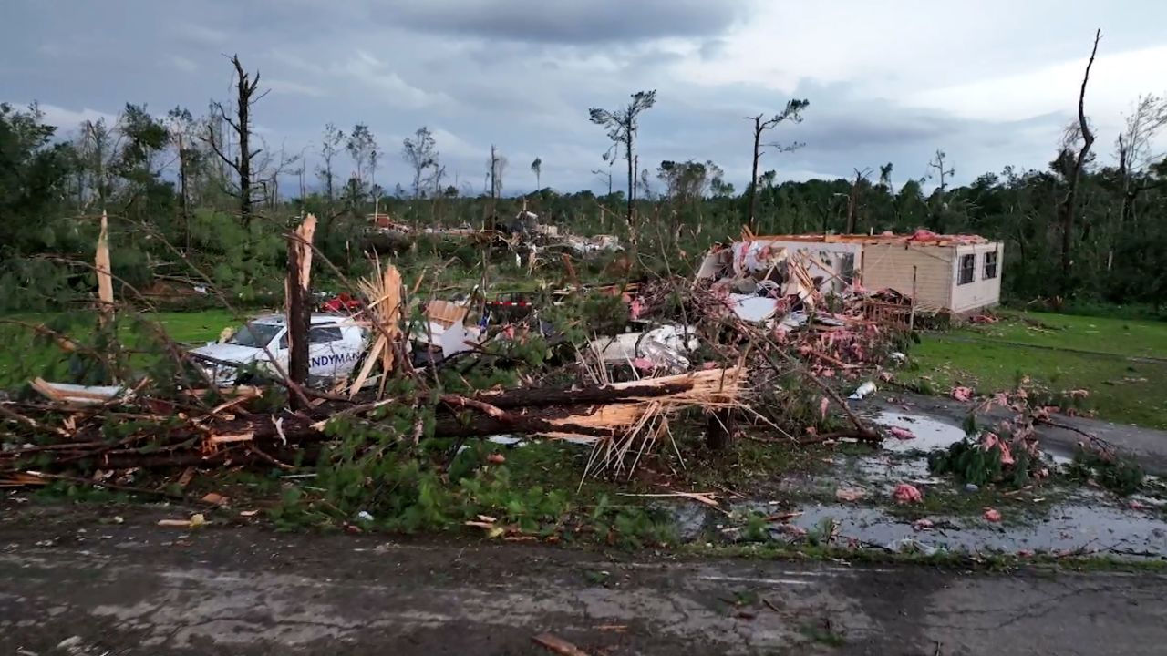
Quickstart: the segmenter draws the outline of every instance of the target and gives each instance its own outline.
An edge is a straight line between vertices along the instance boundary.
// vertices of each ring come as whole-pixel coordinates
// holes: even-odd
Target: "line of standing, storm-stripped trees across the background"
[[[713,161],[641,165],[641,121],[657,103],[649,90],[614,110],[588,110],[610,141],[602,153],[607,166],[592,172],[606,191],[544,188],[545,162],[536,158],[530,172],[537,190],[520,198],[503,196],[508,158],[496,146],[481,190],[459,175],[450,183],[427,126],[401,141],[399,156],[412,174],[404,187],[389,191],[378,181],[386,152],[365,124],[326,125],[309,170],[307,149],[289,153],[256,132],[266,92],[260,72],[238,56],[230,58],[232,97],[211,102],[203,117],[184,107],[158,117],[127,104],[116,120],[85,121],[62,139],[35,105],[0,105],[0,309],[51,307],[69,293],[88,293],[91,271],[82,263],[102,212],[118,232],[112,257],[119,284],[181,284],[186,274],[176,259],[189,258],[246,300],[275,291],[282,235],[307,212],[321,217],[317,244],[326,256],[359,266],[363,258],[354,253],[375,211],[414,225],[485,225],[520,207],[579,232],[638,238],[645,252],[656,239],[689,256],[742,225],[759,233],[978,232],[1006,243],[1004,284],[1013,298],[1159,308],[1167,300],[1167,156],[1155,144],[1167,126],[1167,102],[1140,97],[1114,137],[1114,163],[1099,162],[1104,135],[1088,113],[1099,40],[1096,34],[1077,116],[1051,148],[1049,166],[1006,167],[963,186],[953,184],[956,166],[943,148],[921,162],[923,177],[895,184],[892,162],[878,165],[878,177],[864,167],[848,179],[778,181],[776,169],[763,166],[773,161],[768,155],[803,144],[769,134],[802,121],[806,99],[747,117],[742,151],[749,148],[750,179],[740,194]],[[613,175],[617,160],[623,189],[621,174]],[[317,182],[309,186],[305,179],[313,175]],[[298,191],[280,187],[287,180],[299,181]]]

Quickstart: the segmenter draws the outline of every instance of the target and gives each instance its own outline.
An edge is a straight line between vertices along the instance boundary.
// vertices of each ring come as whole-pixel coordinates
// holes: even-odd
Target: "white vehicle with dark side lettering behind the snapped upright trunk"
[[[368,339],[368,332],[348,316],[313,314],[308,327],[309,381],[349,376],[364,353]],[[252,365],[261,372],[278,376],[272,361],[287,371],[291,354],[287,320],[280,314],[257,316],[225,341],[208,343],[190,354],[218,385],[233,385],[239,371]]]

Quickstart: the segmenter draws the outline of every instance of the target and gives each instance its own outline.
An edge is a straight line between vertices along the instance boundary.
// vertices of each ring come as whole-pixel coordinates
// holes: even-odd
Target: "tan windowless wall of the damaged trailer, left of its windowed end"
[[[917,244],[866,244],[862,257],[864,287],[895,289],[911,295],[916,273],[916,305],[923,309],[950,309],[956,249]]]

